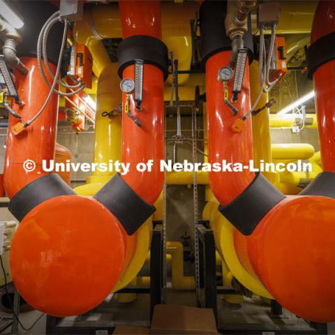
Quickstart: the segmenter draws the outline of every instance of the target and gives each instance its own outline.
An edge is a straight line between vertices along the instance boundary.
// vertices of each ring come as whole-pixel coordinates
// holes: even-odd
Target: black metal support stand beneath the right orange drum
[[[218,324],[218,295],[238,294],[233,288],[217,287],[216,285],[216,247],[213,230],[208,227],[208,221],[201,221],[198,225],[199,251],[200,251],[200,285],[204,288],[204,306],[213,309],[216,323]],[[283,308],[277,301],[271,301],[271,314],[276,316],[276,320],[283,313]],[[218,332],[221,334],[322,334],[327,335],[327,324],[318,322],[308,322],[311,329],[302,330],[288,329],[290,325],[285,325],[285,329],[246,329],[246,325],[234,324],[234,328],[222,329],[218,326]],[[276,324],[278,325],[278,323]]]

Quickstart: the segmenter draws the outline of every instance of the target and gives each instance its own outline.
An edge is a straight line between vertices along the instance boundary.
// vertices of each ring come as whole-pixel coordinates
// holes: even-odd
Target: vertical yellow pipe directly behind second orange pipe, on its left
[[[119,88],[117,63],[110,63],[103,69],[98,78],[98,91],[96,94],[96,132],[94,142],[94,163],[108,163],[121,158],[121,115],[113,117],[103,116],[111,112],[119,103],[122,95]],[[105,184],[115,172],[94,171],[87,178],[87,184]]]

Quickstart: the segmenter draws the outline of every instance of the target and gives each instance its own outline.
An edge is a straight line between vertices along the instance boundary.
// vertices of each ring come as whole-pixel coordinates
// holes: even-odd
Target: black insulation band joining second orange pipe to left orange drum
[[[115,174],[94,199],[101,202],[117,217],[128,235],[132,235],[156,211],[140,198],[124,179]]]

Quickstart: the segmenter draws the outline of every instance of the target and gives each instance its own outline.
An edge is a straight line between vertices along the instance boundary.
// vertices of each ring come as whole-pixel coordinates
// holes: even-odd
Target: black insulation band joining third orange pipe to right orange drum
[[[262,218],[284,198],[285,195],[258,172],[243,193],[230,204],[220,204],[218,211],[242,234],[250,235]]]

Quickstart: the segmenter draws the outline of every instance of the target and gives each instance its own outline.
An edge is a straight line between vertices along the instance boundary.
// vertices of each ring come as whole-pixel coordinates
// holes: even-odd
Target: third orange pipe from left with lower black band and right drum
[[[201,22],[202,17],[214,21],[219,16],[214,6],[219,6],[218,3],[223,7],[223,22],[225,2],[206,3],[200,8],[202,43],[206,45],[208,38],[216,42],[211,44],[211,53],[203,54],[209,162],[225,160],[245,165],[252,158],[251,121],[246,120],[248,123],[241,133],[232,131],[231,126],[239,114],[250,108],[248,68],[237,101],[239,114],[233,117],[223,102],[222,83],[216,80],[219,68],[230,60],[231,52],[223,51],[229,50],[230,44],[204,34],[214,31],[218,22]],[[224,31],[224,27],[215,31],[221,29]],[[209,47],[200,48],[209,50]],[[231,82],[228,89],[232,89]],[[209,183],[221,203],[219,211],[236,228],[234,245],[247,271],[257,276],[274,299],[292,313],[316,322],[334,321],[335,200],[318,196],[285,198],[262,174],[248,170],[209,172]]]

